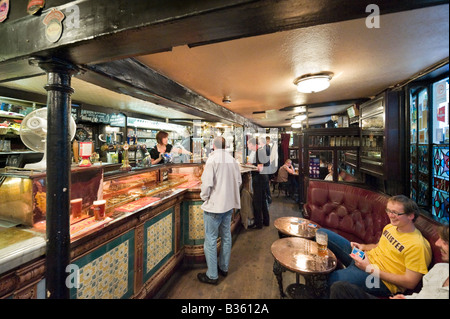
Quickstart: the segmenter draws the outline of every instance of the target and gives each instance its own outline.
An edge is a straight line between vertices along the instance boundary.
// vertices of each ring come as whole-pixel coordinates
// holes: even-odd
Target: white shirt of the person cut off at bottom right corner
[[[442,287],[448,278],[448,263],[439,263],[423,276],[419,293],[405,296],[407,299],[448,299],[448,286]]]

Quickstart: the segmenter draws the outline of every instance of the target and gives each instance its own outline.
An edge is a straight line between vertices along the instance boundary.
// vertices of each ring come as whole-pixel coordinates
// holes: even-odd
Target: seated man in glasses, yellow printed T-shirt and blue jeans
[[[349,242],[326,230],[328,247],[347,267],[330,274],[330,287],[337,281],[347,281],[373,295],[390,296],[414,289],[428,272],[431,247],[414,226],[419,216],[417,204],[404,195],[393,196],[386,213],[390,224],[384,227],[377,244]],[[365,258],[351,255],[353,247],[364,251]]]

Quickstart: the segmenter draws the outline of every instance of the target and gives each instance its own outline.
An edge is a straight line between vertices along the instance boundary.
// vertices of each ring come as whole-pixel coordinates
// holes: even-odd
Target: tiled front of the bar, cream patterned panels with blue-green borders
[[[72,242],[70,298],[153,297],[183,262],[205,261],[200,184],[168,194]],[[44,258],[0,274],[0,299],[45,298]]]

